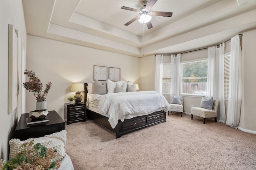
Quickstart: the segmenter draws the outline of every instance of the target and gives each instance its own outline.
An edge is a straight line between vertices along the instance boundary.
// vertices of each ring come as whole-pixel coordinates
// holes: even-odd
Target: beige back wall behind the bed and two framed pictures
[[[28,35],[27,69],[34,70],[43,87],[52,82],[46,96],[48,110],[56,110],[64,119],[64,103],[74,96],[71,84],[94,82],[93,66],[121,69],[121,80],[140,84],[140,59],[98,49]],[[36,109],[36,98],[26,92],[26,112]]]

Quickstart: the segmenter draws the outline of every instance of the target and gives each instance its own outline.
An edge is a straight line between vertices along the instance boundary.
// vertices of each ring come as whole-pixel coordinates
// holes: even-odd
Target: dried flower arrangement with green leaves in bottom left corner
[[[21,145],[22,152],[16,158],[4,163],[0,160],[0,170],[51,170],[60,167],[60,161],[52,161],[56,156],[56,150],[47,149],[40,143],[34,145],[34,140]]]

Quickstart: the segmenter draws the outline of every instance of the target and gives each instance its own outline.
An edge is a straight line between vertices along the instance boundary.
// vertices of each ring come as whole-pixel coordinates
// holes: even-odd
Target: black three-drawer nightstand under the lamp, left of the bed
[[[78,121],[86,121],[86,104],[65,103],[65,116],[67,117],[67,125]]]

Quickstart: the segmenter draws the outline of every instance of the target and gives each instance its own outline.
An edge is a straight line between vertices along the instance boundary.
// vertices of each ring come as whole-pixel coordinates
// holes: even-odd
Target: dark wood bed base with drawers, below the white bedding
[[[164,112],[164,110],[161,110],[155,111],[154,113],[151,113],[149,115],[142,115],[134,117],[132,119],[124,119],[123,122],[118,120],[118,124],[114,129],[112,129],[110,123],[108,122],[108,117],[100,115],[89,109],[86,109],[86,116],[94,122],[116,133],[116,138],[121,137],[125,133],[129,133],[144,127],[152,126],[157,123],[162,123],[166,121],[166,113]]]

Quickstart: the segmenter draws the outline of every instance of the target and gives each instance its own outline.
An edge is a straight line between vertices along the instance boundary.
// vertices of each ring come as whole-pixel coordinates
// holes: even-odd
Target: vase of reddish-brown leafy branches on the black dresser
[[[52,86],[52,82],[48,82],[45,90],[43,90],[43,84],[41,80],[36,77],[34,71],[26,69],[24,70],[24,74],[29,77],[29,81],[24,82],[23,86],[36,97],[36,110],[46,109],[46,96]]]

